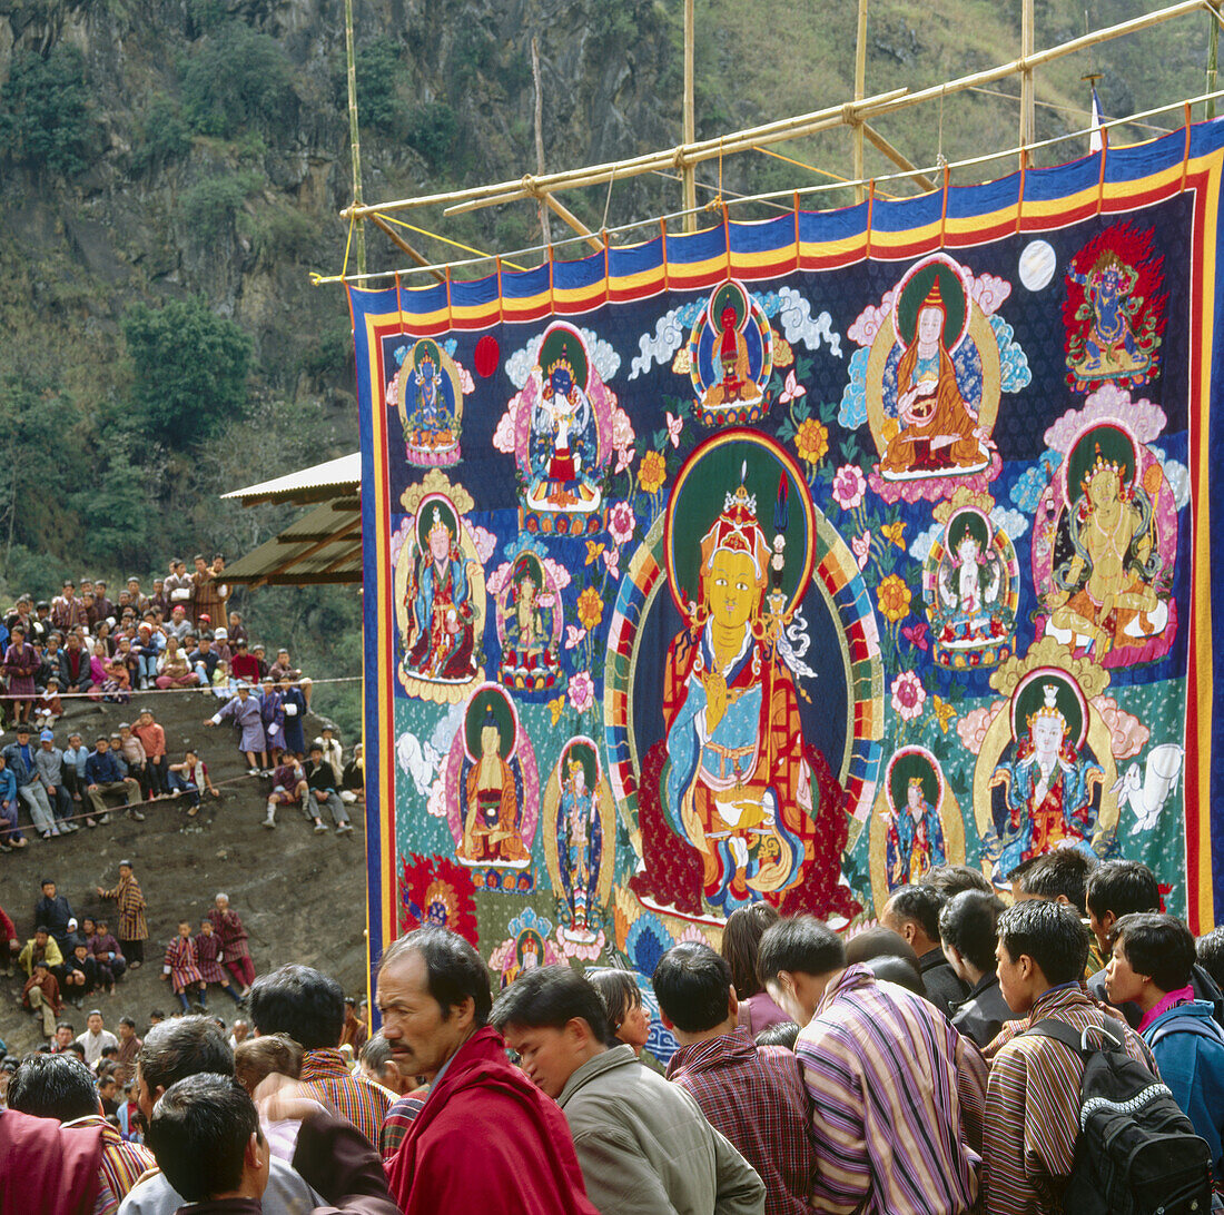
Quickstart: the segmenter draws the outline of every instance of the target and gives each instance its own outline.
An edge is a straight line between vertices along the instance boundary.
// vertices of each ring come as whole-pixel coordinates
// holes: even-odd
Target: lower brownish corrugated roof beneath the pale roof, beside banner
[[[361,581],[361,499],[355,494],[307,511],[253,552],[225,567],[230,582],[300,586]]]

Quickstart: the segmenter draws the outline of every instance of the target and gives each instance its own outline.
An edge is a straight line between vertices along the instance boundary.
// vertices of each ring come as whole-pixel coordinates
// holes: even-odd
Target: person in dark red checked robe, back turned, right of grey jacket
[[[799,1061],[782,1047],[759,1046],[747,1025],[737,1028],[731,967],[710,946],[673,946],[651,984],[660,1018],[681,1044],[667,1079],[756,1170],[770,1215],[810,1211],[816,1157]]]

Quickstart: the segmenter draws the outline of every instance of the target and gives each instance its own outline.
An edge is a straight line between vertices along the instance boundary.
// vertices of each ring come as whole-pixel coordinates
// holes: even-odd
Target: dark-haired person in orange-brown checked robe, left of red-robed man
[[[338,1049],[344,1028],[340,985],[310,967],[288,965],[256,979],[250,998],[256,1034],[288,1034],[297,1042],[305,1051],[302,1084],[378,1143],[394,1094],[354,1076],[344,1063]]]

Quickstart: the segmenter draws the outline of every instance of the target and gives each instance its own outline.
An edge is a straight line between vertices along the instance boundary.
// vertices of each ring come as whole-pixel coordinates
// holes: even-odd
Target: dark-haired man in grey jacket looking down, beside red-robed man
[[[602,1215],[761,1210],[760,1177],[688,1095],[608,1046],[605,1012],[586,979],[551,965],[520,974],[490,1013],[564,1112],[590,1200]]]

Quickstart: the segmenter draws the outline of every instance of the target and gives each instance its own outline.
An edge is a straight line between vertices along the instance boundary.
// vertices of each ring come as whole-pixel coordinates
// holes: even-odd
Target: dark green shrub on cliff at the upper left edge
[[[89,166],[97,128],[76,46],[56,46],[45,59],[33,51],[15,55],[0,106],[0,139],[18,164],[62,177]]]

